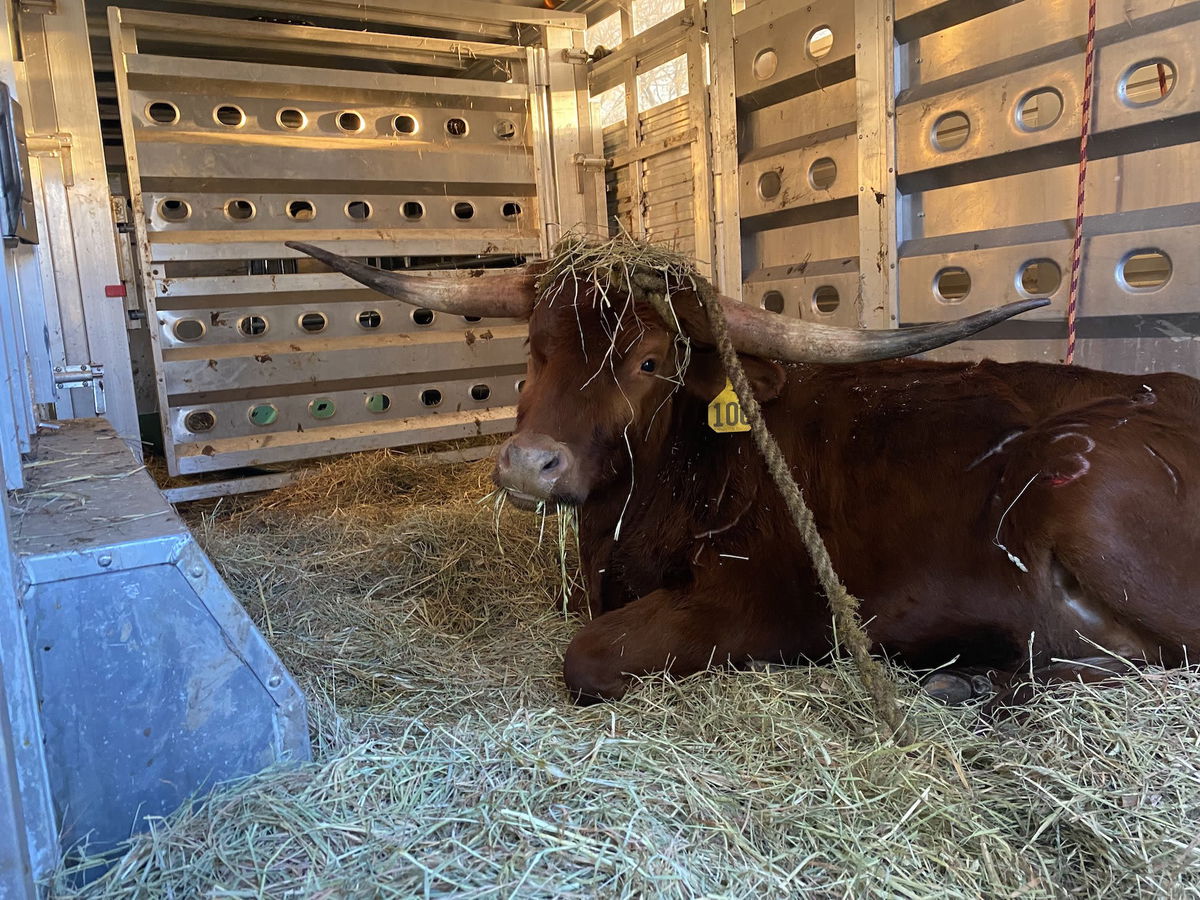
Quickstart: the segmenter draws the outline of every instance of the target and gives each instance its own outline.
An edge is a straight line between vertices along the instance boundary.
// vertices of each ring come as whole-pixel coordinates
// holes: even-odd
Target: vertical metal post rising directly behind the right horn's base
[[[708,4],[712,65],[712,160],[716,288],[742,299],[742,216],[738,212],[738,108],[733,83],[733,10],[728,0]]]

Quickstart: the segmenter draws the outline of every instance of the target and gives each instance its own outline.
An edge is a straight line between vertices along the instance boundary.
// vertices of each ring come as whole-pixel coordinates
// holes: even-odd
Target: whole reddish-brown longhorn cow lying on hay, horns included
[[[494,479],[518,505],[580,508],[576,605],[593,620],[566,650],[577,698],[620,697],[630,674],[830,652],[824,599],[750,436],[707,425],[725,374],[694,293],[672,298],[683,341],[648,304],[599,301],[590,283],[542,286],[534,302],[536,270],[431,281],[293,246],[421,306],[529,316]],[[971,694],[973,667],[1088,677],[1112,667],[1090,659],[1104,652],[1176,666],[1200,646],[1200,383],[870,361],[1042,302],[889,332],[725,304],[876,650],[958,660],[965,674],[932,691],[944,698]]]

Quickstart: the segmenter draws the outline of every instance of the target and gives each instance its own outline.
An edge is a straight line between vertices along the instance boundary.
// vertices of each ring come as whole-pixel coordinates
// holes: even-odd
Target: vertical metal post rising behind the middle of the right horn
[[[858,101],[858,323],[898,322],[895,0],[854,0]]]

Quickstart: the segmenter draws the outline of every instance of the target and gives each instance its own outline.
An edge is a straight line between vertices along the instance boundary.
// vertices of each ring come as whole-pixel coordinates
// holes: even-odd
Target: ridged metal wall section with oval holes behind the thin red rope
[[[896,102],[911,210],[901,318],[1046,296],[1044,310],[935,355],[1061,360],[1087,4],[1026,0],[950,20],[910,43],[911,86]],[[1098,28],[1076,361],[1196,373],[1200,2],[1102,8]]]

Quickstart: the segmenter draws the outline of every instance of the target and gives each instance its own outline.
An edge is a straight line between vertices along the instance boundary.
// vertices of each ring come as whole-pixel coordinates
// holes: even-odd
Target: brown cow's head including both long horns
[[[661,443],[676,402],[707,403],[725,384],[707,314],[686,283],[670,286],[667,308],[631,300],[619,283],[600,289],[590,278],[565,269],[547,271],[545,264],[426,276],[374,269],[306,244],[288,246],[414,306],[528,318],[529,370],[517,428],[500,448],[494,473],[497,485],[521,506],[583,503],[622,475],[635,452]],[[721,298],[730,336],[760,402],[773,400],[784,385],[776,360],[907,356],[1046,302],[1024,300],[956,322],[865,331],[784,318]]]

